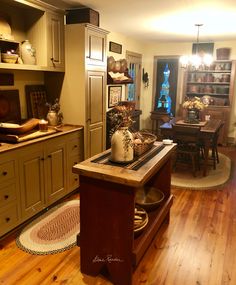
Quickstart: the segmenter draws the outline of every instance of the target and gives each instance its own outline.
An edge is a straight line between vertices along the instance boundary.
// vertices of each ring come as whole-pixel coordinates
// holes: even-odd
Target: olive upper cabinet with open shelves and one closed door
[[[64,71],[64,11],[41,1],[2,0],[1,15],[10,26],[10,35],[0,28],[0,48],[22,56],[22,42],[28,40],[36,64],[0,63],[0,69]]]

